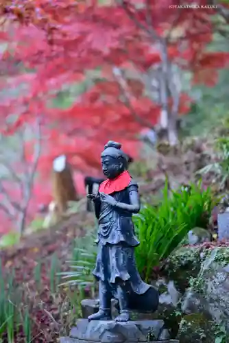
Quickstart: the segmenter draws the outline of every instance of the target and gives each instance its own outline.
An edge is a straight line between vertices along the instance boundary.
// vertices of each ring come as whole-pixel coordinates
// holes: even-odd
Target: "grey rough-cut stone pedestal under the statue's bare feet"
[[[61,338],[60,343],[135,343],[135,342],[173,342],[163,320],[136,320],[115,322],[115,320],[77,321],[71,329],[69,338]]]

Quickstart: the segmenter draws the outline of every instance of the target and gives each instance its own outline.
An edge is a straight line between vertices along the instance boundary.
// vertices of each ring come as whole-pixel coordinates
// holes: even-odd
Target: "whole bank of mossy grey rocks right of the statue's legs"
[[[178,303],[157,313],[172,338],[178,331],[180,343],[229,342],[229,247],[181,246],[165,273],[183,294],[181,311]]]

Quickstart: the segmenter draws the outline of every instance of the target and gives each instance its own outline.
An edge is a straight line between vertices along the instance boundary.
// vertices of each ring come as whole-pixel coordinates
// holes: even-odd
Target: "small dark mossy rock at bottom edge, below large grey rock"
[[[202,314],[186,315],[180,322],[178,338],[180,343],[215,343],[213,322]]]

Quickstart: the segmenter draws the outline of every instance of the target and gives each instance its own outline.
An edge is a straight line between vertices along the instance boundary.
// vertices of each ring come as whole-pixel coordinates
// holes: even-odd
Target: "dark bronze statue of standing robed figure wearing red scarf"
[[[129,310],[156,311],[158,291],[144,283],[136,269],[132,214],[140,211],[138,185],[130,176],[128,158],[121,144],[109,141],[101,153],[106,180],[97,195],[88,194],[95,204],[99,222],[98,253],[93,275],[99,281],[99,311],[88,320],[110,320],[112,297],[119,301],[118,322],[130,320]]]

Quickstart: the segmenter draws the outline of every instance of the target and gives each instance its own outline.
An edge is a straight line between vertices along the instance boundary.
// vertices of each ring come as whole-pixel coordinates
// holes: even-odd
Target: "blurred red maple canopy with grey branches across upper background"
[[[217,8],[204,0],[195,8],[187,3],[1,1],[0,87],[19,89],[1,102],[1,132],[13,134],[39,118],[41,176],[49,176],[60,154],[77,171],[98,174],[99,152],[109,139],[138,156],[138,134],[161,120],[161,110],[176,131],[174,121],[189,111],[191,99],[176,89],[173,67],[212,86],[229,57],[206,50]],[[57,108],[55,99],[64,94],[69,106]]]

